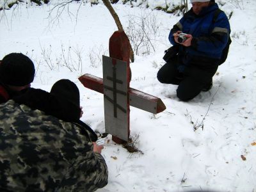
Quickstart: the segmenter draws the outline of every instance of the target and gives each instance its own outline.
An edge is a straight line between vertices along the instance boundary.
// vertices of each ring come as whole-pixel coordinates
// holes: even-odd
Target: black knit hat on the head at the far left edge
[[[22,53],[8,54],[0,63],[0,81],[4,84],[24,86],[32,83],[34,77],[34,63]]]

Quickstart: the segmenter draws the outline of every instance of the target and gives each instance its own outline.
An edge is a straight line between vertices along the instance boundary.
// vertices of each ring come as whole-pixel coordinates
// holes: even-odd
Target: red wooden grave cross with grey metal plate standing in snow
[[[150,113],[166,109],[161,99],[130,88],[130,44],[124,31],[115,31],[109,39],[109,56],[102,56],[103,79],[84,74],[79,81],[86,87],[104,94],[106,132],[116,143],[128,141],[130,106]]]

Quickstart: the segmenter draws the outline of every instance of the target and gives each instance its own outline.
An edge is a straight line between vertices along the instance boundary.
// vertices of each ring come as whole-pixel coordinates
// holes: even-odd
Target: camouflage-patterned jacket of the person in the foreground
[[[0,105],[0,191],[95,191],[108,183],[88,132],[13,100]]]

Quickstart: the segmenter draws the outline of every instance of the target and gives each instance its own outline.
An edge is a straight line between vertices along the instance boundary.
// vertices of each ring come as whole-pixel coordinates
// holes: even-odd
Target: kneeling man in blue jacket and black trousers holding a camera
[[[191,10],[170,31],[169,40],[177,54],[157,73],[161,83],[179,85],[177,97],[183,101],[211,89],[230,33],[224,12],[214,19],[218,4],[212,0],[191,0],[191,3]]]

